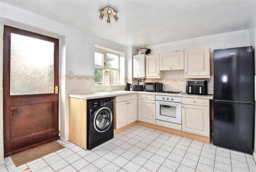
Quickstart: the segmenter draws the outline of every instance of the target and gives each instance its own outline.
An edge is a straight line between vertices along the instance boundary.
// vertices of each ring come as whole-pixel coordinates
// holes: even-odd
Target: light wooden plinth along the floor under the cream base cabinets
[[[199,135],[194,135],[192,133],[187,133],[187,132],[183,132],[183,131],[178,131],[176,129],[171,129],[171,128],[167,128],[167,127],[162,127],[159,125],[155,125],[155,124],[150,124],[150,123],[145,123],[142,121],[135,121],[131,124],[126,125],[125,127],[119,128],[119,129],[114,129],[114,134],[117,134],[123,130],[125,130],[126,128],[132,127],[133,125],[143,125],[145,127],[150,127],[150,128],[154,128],[154,129],[158,129],[160,131],[164,131],[164,132],[168,132],[168,133],[172,133],[175,135],[179,135],[179,136],[183,136],[183,137],[188,137],[190,139],[194,139],[194,140],[198,140],[198,141],[203,141],[203,142],[210,142],[210,137],[205,137],[205,136],[199,136]]]

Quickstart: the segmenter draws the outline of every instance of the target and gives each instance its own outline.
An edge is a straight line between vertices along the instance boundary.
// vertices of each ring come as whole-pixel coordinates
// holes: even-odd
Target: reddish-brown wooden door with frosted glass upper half
[[[59,138],[59,40],[5,26],[5,156]],[[55,89],[56,88],[56,89]]]

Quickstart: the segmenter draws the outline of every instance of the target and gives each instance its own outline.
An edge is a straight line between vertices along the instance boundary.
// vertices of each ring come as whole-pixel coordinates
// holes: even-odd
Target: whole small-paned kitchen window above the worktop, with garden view
[[[120,54],[96,50],[94,52],[94,77],[95,83],[100,85],[110,85],[117,83],[120,85]]]

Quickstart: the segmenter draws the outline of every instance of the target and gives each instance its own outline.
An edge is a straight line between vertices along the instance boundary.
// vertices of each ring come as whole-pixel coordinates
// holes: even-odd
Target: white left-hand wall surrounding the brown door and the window
[[[3,24],[22,28],[24,30],[38,32],[44,35],[60,39],[60,136],[68,140],[68,94],[102,90],[106,87],[94,87],[94,44],[123,52],[128,57],[128,48],[124,45],[112,43],[100,39],[85,30],[67,26],[52,19],[34,14],[6,3],[0,2],[0,29]],[[2,32],[0,39],[2,43]],[[2,46],[1,46],[2,48]],[[2,49],[0,49],[2,53]],[[0,53],[0,82],[2,82],[2,54]],[[75,77],[67,79],[67,74]],[[86,79],[76,79],[76,75],[82,75]],[[74,79],[75,78],[75,79]],[[81,82],[82,81],[82,82]],[[74,83],[69,85],[69,83]],[[2,84],[0,83],[2,86]],[[115,89],[123,89],[116,87]],[[0,90],[0,164],[3,160],[2,140],[2,94]]]

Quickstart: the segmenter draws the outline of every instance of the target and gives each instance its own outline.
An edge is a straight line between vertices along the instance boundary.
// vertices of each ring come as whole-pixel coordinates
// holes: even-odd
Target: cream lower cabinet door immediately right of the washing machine
[[[116,104],[115,129],[127,125],[127,101]]]

